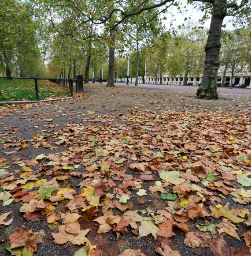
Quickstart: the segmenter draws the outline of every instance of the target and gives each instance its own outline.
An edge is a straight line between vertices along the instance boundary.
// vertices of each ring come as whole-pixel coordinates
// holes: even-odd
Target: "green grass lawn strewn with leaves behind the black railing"
[[[47,80],[38,80],[39,99],[65,97],[70,90]],[[0,79],[0,101],[36,100],[33,79]]]

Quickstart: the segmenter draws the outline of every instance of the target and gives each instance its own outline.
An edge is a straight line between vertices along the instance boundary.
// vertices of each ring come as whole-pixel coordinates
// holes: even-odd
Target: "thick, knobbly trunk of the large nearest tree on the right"
[[[213,7],[210,29],[205,46],[206,58],[204,61],[203,79],[197,90],[199,99],[218,99],[217,73],[219,68],[219,52],[221,49],[221,26],[226,16],[226,0],[217,0]]]

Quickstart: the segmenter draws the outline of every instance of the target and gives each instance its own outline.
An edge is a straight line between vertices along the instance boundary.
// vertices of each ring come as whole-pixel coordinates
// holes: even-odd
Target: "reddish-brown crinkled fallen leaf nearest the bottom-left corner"
[[[25,246],[26,242],[32,236],[32,231],[26,231],[24,227],[17,229],[13,234],[9,236],[11,249]]]

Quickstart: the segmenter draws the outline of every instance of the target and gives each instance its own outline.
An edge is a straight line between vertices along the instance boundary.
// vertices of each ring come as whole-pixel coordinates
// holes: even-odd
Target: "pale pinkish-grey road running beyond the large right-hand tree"
[[[118,85],[124,85],[125,83],[115,83]],[[134,86],[134,83],[129,84],[130,87]],[[198,86],[183,86],[183,85],[162,85],[162,84],[139,84],[138,87],[146,88],[146,89],[160,89],[160,90],[192,90],[196,91]],[[248,88],[233,88],[230,89],[229,87],[218,87],[217,91],[219,93],[225,94],[251,94],[251,89]]]

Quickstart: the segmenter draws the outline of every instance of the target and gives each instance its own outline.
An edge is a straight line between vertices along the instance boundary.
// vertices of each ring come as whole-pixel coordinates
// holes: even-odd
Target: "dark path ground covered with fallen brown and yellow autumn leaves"
[[[250,96],[234,99],[89,85],[2,106],[1,255],[250,255]]]

